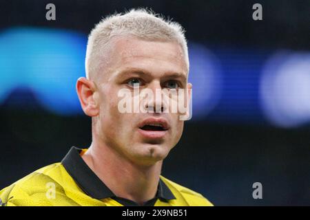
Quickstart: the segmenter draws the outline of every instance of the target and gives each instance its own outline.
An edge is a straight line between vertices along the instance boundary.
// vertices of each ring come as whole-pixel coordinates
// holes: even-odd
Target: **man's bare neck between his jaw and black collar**
[[[141,166],[125,159],[108,146],[94,143],[82,158],[117,197],[139,204],[155,197],[162,161]]]

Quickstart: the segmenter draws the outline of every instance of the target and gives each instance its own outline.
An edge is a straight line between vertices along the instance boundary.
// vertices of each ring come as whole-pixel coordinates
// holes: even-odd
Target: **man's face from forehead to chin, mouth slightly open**
[[[110,45],[104,63],[99,59],[95,81],[99,103],[96,135],[130,161],[154,164],[164,159],[180,140],[184,122],[179,113],[170,110],[168,113],[121,113],[118,103],[122,97],[118,92],[127,89],[133,98],[137,88],[140,91],[151,89],[154,95],[156,89],[164,88],[187,91],[183,50],[178,43],[143,41],[134,37],[113,39]],[[145,109],[153,109],[156,104],[167,108],[167,103],[158,103],[155,96],[154,102],[141,102]],[[157,129],[154,125],[162,127]]]

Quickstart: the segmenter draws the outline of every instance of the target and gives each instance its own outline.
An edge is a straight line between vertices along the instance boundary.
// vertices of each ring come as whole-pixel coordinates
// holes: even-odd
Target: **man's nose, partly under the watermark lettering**
[[[162,95],[161,83],[154,81],[149,83],[147,89],[150,89],[153,94],[153,98],[147,97],[145,100],[144,108],[147,112],[163,113],[167,110],[167,103]]]

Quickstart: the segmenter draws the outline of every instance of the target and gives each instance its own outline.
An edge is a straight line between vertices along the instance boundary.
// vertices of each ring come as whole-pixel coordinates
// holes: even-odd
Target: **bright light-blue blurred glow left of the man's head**
[[[16,87],[28,87],[46,109],[81,113],[76,79],[85,76],[87,37],[76,32],[12,28],[0,35],[0,102]]]

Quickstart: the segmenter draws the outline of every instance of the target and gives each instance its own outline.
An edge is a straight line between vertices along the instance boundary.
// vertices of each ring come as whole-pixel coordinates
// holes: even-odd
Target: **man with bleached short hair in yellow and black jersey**
[[[92,117],[91,146],[72,147],[61,163],[4,188],[2,203],[211,206],[202,195],[161,176],[163,159],[183,133],[180,116],[188,115],[188,110],[171,111],[169,91],[185,89],[189,97],[192,89],[183,28],[147,10],[107,17],[89,36],[85,69],[86,78],[77,80],[76,91],[83,111]],[[146,99],[140,96],[143,89],[154,94],[165,90],[165,98]],[[122,107],[134,102],[130,98],[138,104],[124,113]]]

